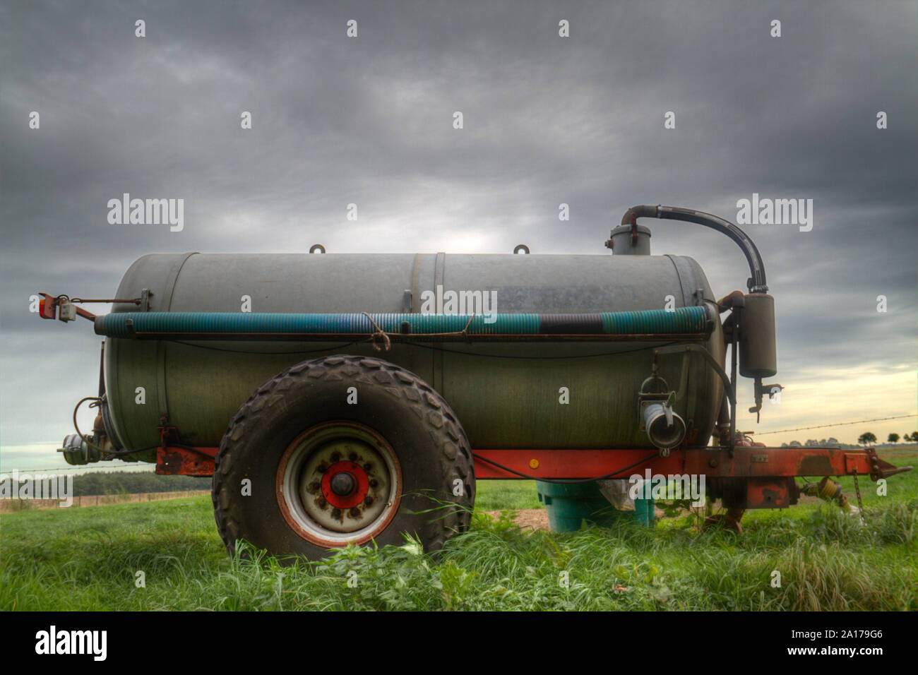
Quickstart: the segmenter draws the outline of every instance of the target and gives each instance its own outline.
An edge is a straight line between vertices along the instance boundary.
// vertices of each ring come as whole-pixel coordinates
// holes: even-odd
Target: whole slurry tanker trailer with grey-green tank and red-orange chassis
[[[693,259],[652,255],[641,218],[730,237],[746,291],[716,299]],[[796,503],[795,477],[899,470],[872,448],[766,447],[737,432],[737,370],[754,381],[750,411],[780,385],[765,381],[778,370],[765,265],[733,223],[639,206],[606,246],[144,255],[115,298],[96,300],[109,314],[41,294],[42,318],[82,317],[105,338],[98,395],[81,401],[95,427],[61,451],[212,476],[230,553],[246,540],[310,558],[402,533],[435,550],[467,528],[487,478],[703,475],[739,528],[746,509]]]

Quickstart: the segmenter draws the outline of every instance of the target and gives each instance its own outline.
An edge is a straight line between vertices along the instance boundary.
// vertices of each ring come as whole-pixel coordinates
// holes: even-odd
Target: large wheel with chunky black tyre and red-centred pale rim
[[[474,464],[453,410],[420,377],[340,354],[287,368],[242,405],[212,498],[230,555],[244,539],[314,560],[348,544],[400,545],[402,533],[434,552],[468,529]]]

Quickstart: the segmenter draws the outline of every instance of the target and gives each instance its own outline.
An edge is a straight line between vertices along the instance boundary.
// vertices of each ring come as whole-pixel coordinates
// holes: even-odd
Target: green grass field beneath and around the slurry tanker
[[[819,502],[748,512],[742,536],[691,516],[530,534],[483,512],[539,508],[532,482],[481,481],[472,531],[438,561],[408,542],[288,568],[229,559],[208,497],[24,511],[0,521],[0,609],[918,610],[916,479],[885,497],[862,479],[867,526]]]

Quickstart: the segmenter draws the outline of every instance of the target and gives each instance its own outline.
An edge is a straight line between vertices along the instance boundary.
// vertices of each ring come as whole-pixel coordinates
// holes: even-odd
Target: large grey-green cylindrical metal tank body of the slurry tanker
[[[151,311],[238,312],[248,297],[252,312],[419,312],[421,294],[437,287],[493,291],[497,306],[491,309],[498,313],[713,301],[700,266],[688,257],[445,253],[157,253],[130,266],[117,297],[139,298],[149,289]],[[723,364],[715,324],[704,344]],[[640,429],[637,393],[650,374],[652,350],[663,344],[393,343],[378,353],[370,343],[108,338],[105,381],[112,431],[127,449],[157,444],[163,421],[176,427],[182,443],[216,446],[256,388],[288,366],[328,354],[373,354],[413,371],[450,403],[473,448],[652,448]],[[682,354],[660,354],[657,365],[673,388],[683,381]],[[689,443],[707,444],[722,382],[696,354],[687,384],[674,410],[689,427]]]

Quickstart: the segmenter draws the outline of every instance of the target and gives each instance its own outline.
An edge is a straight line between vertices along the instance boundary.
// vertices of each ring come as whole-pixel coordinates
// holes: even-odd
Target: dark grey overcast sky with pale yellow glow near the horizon
[[[787,390],[758,427],[744,413],[740,428],[913,414],[916,27],[914,2],[2,0],[0,462],[60,466],[47,447],[72,432],[76,400],[95,395],[99,339],[84,321],[40,321],[29,296],[111,297],[144,253],[525,242],[609,254],[632,205],[736,219],[753,193],[812,199],[813,220],[812,231],[744,226],[776,298],[775,379]],[[109,224],[107,201],[125,192],[184,198],[184,230]],[[694,257],[718,297],[745,287],[733,242],[644,224],[654,253]],[[91,413],[81,419],[91,426]]]

